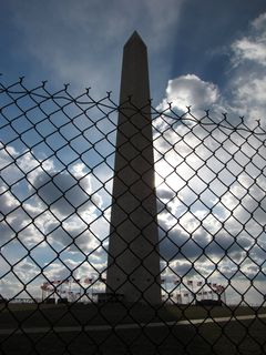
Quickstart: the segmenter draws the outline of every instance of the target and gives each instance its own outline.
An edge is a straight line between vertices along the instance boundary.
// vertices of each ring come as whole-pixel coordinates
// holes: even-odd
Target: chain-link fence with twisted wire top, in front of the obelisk
[[[156,306],[104,298],[124,105],[152,113]],[[259,121],[0,83],[1,354],[265,353],[265,138]]]

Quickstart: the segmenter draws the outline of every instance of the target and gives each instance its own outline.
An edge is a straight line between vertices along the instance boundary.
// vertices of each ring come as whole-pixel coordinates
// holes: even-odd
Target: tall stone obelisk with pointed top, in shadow
[[[106,292],[121,294],[130,303],[158,304],[158,229],[149,100],[147,50],[134,32],[123,52]]]

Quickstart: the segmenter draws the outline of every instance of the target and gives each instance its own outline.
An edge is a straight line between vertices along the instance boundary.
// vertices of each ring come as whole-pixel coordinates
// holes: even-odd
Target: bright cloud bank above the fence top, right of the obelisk
[[[168,80],[165,97],[158,104],[158,110],[165,110],[167,103],[180,113],[187,111],[187,106],[196,116],[203,110],[212,110],[222,115],[245,115],[249,123],[260,119],[265,125],[266,91],[266,13],[255,19],[246,34],[235,40],[228,48],[228,80],[223,92],[213,82],[187,73]],[[233,118],[229,119],[234,121]]]

